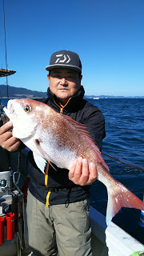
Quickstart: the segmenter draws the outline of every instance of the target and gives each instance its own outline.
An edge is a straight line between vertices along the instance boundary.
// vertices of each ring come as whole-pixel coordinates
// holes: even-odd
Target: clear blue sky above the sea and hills
[[[46,91],[50,55],[72,50],[81,58],[87,95],[144,96],[143,0],[5,0],[5,15],[8,68],[17,71],[10,86]]]

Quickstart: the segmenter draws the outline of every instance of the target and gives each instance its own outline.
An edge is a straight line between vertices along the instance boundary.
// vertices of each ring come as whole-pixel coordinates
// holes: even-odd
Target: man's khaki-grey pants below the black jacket
[[[87,200],[46,207],[29,191],[26,211],[31,255],[92,256]]]

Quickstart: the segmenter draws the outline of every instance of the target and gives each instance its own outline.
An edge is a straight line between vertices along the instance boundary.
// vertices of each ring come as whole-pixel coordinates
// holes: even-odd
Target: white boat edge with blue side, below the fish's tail
[[[127,234],[114,222],[106,226],[106,218],[90,206],[92,228],[92,251],[94,256],[130,256],[136,251],[144,252],[144,245]]]

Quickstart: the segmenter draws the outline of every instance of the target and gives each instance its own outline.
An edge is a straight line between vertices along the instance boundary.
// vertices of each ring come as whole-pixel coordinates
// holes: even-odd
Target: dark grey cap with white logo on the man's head
[[[50,65],[46,66],[46,70],[50,71],[60,67],[82,73],[82,63],[78,54],[70,50],[58,50],[52,54]]]

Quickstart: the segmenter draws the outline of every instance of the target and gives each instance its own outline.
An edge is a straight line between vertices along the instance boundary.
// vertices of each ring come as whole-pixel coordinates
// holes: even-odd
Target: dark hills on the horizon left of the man
[[[8,86],[9,98],[46,98],[47,93],[37,90],[28,90],[26,88],[18,88]],[[7,86],[0,85],[0,98],[7,97]]]

